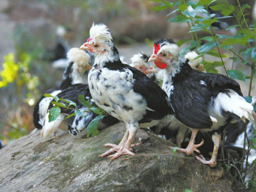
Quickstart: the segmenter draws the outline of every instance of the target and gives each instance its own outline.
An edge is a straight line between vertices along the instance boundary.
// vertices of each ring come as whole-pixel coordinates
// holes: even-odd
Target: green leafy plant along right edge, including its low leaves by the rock
[[[237,3],[238,6],[229,4],[231,1],[227,0],[177,0],[173,2],[166,0],[154,0],[154,2],[159,3],[159,5],[157,5],[153,11],[169,10],[169,14],[166,16],[170,23],[186,23],[189,28],[188,33],[191,38],[180,39],[177,42],[178,46],[182,46],[185,43],[189,44],[187,47],[180,50],[180,55],[185,55],[189,50],[196,51],[199,54],[197,58],[203,58],[202,64],[206,72],[219,73],[218,68],[223,67],[226,75],[233,79],[242,81],[246,81],[248,79],[250,81],[248,91],[249,96],[245,97],[245,99],[250,103],[252,101],[252,97],[250,96],[252,79],[256,76],[256,50],[252,44],[255,43],[256,40],[256,22],[252,23],[248,20],[244,11],[246,9],[251,9],[251,7],[247,4],[241,6],[239,0],[232,2]],[[216,14],[210,14],[208,8],[220,12],[222,16],[217,17]],[[227,27],[225,30],[229,31],[236,28],[236,34],[225,33],[225,35],[223,35],[216,33],[217,31],[212,24],[221,22],[220,19],[230,17],[233,17],[237,23]],[[249,24],[249,22],[251,23]],[[203,32],[205,36],[199,36],[199,32]],[[222,54],[222,52],[225,52],[225,54]],[[206,60],[205,55],[214,56],[215,59]],[[225,57],[226,59],[224,60],[223,58]],[[225,66],[225,61],[227,60],[231,60],[233,63],[230,69],[227,69]],[[242,65],[250,67],[250,74],[244,74],[240,70],[234,70],[235,66],[235,69],[239,69],[237,66],[241,63]],[[254,105],[254,111],[255,110],[256,104]],[[256,133],[254,133],[253,138],[247,138],[247,144],[249,144],[250,149],[255,148],[255,142]],[[177,148],[174,147],[174,154],[176,154],[176,150]],[[244,159],[242,159],[241,162],[244,162]],[[256,163],[251,164],[252,168],[255,168],[255,164]],[[243,177],[242,179],[244,180],[249,170],[243,169],[243,165],[244,164],[242,164],[240,168],[241,173],[239,173],[237,169],[234,176],[238,178],[241,174]],[[247,165],[248,162],[246,162],[246,166]],[[227,172],[231,173],[231,166],[230,164],[227,164],[225,160],[223,161],[223,167],[226,168]],[[250,171],[251,170],[253,169],[250,169]],[[254,181],[249,182],[249,188],[251,191],[256,190],[255,186]],[[185,191],[188,192],[190,189],[186,189]]]

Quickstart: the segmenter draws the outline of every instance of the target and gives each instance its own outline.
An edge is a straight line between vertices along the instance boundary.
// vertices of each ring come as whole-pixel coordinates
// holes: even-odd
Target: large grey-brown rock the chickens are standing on
[[[124,131],[118,123],[92,138],[58,132],[41,140],[39,131],[19,138],[0,151],[0,191],[246,191],[221,167],[174,155],[172,143],[142,130],[135,157],[98,158]]]

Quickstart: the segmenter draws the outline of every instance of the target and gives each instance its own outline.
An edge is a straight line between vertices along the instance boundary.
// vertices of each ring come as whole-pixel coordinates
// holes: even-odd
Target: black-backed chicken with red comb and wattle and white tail
[[[160,39],[154,44],[154,61],[165,69],[163,90],[167,93],[175,117],[192,129],[186,149],[178,151],[187,155],[199,152],[195,144],[197,132],[212,132],[214,151],[209,161],[200,155],[199,161],[216,166],[221,134],[231,120],[253,120],[253,106],[243,98],[239,83],[233,79],[213,73],[192,69],[188,60],[179,56],[179,47],[172,39]]]

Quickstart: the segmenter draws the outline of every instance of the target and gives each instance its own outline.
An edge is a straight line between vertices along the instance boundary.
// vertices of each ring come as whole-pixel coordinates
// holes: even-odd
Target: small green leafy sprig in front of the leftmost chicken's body
[[[86,106],[88,108],[88,111],[84,111],[82,109],[78,109],[77,108],[77,104],[74,101],[71,101],[69,99],[62,99],[62,98],[58,98],[57,96],[52,96],[51,94],[46,93],[44,95],[45,97],[52,97],[54,99],[54,101],[51,101],[52,104],[54,104],[54,106],[49,110],[49,122],[55,121],[61,112],[60,108],[67,108],[70,110],[75,110],[74,113],[70,114],[69,116],[67,116],[65,119],[69,119],[70,117],[73,117],[74,115],[78,116],[78,117],[82,117],[82,116],[86,116],[87,113],[95,113],[98,116],[96,116],[87,126],[87,137],[90,137],[90,135],[95,136],[99,133],[98,131],[98,124],[99,121],[105,117],[107,115],[107,113],[100,109],[97,108],[95,106],[92,106],[90,103],[90,98],[86,97],[84,98],[84,95],[79,95],[78,96],[78,101]],[[67,104],[63,103],[66,102]],[[72,106],[72,108],[71,108]]]

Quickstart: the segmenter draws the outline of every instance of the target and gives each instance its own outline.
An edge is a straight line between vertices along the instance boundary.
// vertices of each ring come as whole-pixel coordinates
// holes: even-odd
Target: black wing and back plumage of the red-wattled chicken
[[[185,125],[196,129],[212,126],[208,113],[211,99],[226,89],[232,89],[242,96],[238,82],[213,73],[203,73],[184,63],[181,72],[174,78],[174,90],[170,95],[175,116]]]

